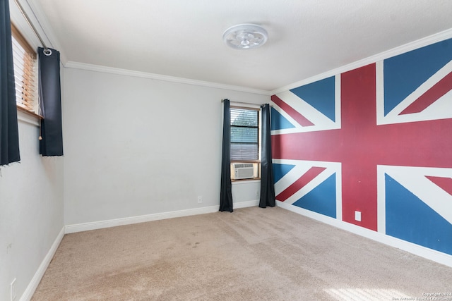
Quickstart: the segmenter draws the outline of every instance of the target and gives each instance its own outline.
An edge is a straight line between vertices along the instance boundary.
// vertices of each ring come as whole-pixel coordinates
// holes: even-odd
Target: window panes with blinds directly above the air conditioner
[[[231,107],[231,161],[258,161],[259,111]]]

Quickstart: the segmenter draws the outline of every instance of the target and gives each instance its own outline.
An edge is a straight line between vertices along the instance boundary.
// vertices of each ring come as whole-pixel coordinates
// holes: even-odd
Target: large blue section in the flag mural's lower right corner
[[[386,234],[452,254],[452,224],[385,174]]]

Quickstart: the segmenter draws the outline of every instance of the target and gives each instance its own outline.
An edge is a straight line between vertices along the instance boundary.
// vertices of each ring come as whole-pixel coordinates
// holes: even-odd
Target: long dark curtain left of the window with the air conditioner
[[[223,146],[221,157],[220,211],[232,209],[230,102],[223,100]]]

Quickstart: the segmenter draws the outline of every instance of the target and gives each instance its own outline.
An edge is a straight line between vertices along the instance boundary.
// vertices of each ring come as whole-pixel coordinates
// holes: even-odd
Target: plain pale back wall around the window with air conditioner
[[[64,72],[66,225],[218,206],[220,99],[270,102],[260,94]],[[234,202],[249,198],[236,193]]]

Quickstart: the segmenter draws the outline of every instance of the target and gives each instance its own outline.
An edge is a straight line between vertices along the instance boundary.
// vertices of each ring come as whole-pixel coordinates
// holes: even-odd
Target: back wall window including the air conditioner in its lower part
[[[231,177],[259,178],[259,110],[231,107]]]

